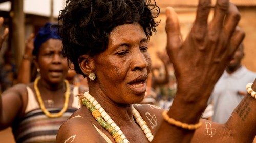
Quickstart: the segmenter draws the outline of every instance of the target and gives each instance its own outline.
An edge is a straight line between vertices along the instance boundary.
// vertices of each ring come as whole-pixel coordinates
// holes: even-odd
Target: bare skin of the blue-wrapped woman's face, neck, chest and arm
[[[49,39],[43,43],[39,53],[35,58],[36,65],[40,69],[41,79],[38,82],[42,100],[53,100],[54,105],[47,107],[62,108],[65,98],[66,86],[63,82],[68,72],[67,59],[61,54],[62,41]],[[35,94],[33,83],[27,84]],[[71,90],[73,85],[70,85]],[[87,91],[84,87],[79,87],[79,92]],[[28,103],[28,93],[25,84],[17,84],[6,90],[0,98],[0,129],[3,130],[12,125],[15,119],[22,118]],[[36,97],[35,97],[36,98]],[[36,98],[37,99],[37,98]],[[69,107],[71,107],[73,95],[70,95]]]

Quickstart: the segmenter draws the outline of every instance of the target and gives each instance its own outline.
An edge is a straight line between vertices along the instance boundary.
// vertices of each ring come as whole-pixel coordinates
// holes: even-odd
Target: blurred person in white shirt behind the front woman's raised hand
[[[249,71],[241,64],[244,56],[244,45],[242,43],[216,83],[214,91],[212,91],[209,103],[214,106],[212,117],[214,122],[227,122],[232,111],[245,97],[247,93],[246,84],[253,82],[256,78],[256,73]]]

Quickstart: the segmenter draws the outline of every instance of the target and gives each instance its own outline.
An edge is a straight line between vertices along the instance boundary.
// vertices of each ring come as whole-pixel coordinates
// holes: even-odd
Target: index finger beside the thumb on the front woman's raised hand
[[[210,0],[200,0],[197,8],[197,16],[192,28],[193,37],[197,41],[202,41],[207,32],[207,20],[211,8]]]

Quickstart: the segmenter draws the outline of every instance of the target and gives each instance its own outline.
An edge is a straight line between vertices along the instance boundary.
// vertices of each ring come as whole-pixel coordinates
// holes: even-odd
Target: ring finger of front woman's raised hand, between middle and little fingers
[[[230,38],[233,35],[233,32],[236,29],[240,18],[241,15],[237,7],[234,4],[230,3],[223,31],[227,38]]]

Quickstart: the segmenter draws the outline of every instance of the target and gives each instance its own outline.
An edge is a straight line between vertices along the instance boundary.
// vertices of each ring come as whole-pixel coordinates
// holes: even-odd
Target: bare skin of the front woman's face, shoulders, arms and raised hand
[[[244,38],[241,30],[235,31],[240,15],[234,5],[224,0],[217,1],[214,19],[207,24],[210,1],[200,0],[199,2],[195,24],[184,42],[180,39],[177,14],[172,8],[166,10],[168,37],[166,49],[174,65],[178,84],[177,95],[168,115],[188,124],[199,122],[215,83]],[[223,25],[225,15],[226,21]],[[150,71],[148,69],[150,60],[142,48],[146,46],[142,42],[144,38],[143,29],[137,23],[117,26],[110,33],[109,45],[104,52],[94,57],[88,55],[80,57],[80,68],[83,73],[87,76],[90,73],[96,74],[95,80],[88,81],[90,94],[121,128],[130,142],[148,142],[132,116],[132,104],[143,99],[141,93],[144,85],[129,82],[134,78],[142,80],[143,76],[140,75],[148,74]],[[232,42],[230,42],[231,39]],[[116,55],[121,51],[126,52],[124,56]],[[140,90],[129,89],[131,85],[139,87]],[[255,121],[253,117],[255,103],[253,102],[256,101],[250,96],[245,99],[241,102],[243,105],[240,104],[242,106],[240,108],[246,108],[246,110],[248,106],[251,108],[246,113],[243,124],[241,124],[243,116],[240,117],[240,112],[235,110],[226,124],[201,120],[203,124],[196,131],[168,124],[162,119],[163,110],[161,109],[152,109],[150,105],[138,107],[134,105],[134,107],[150,127],[154,135],[152,142],[216,142],[216,140],[248,142],[253,140],[256,132],[253,124]],[[249,101],[250,103],[247,103]],[[243,107],[245,104],[246,107]],[[156,116],[158,124],[154,128],[146,117],[147,112]],[[75,116],[79,117],[71,118],[62,124],[57,142],[65,142],[74,135],[73,142],[105,142],[93,125],[114,142],[110,133],[96,122],[86,107],[75,112],[73,117]],[[211,124],[211,127],[216,129],[214,136],[205,135],[206,124],[207,126]]]

